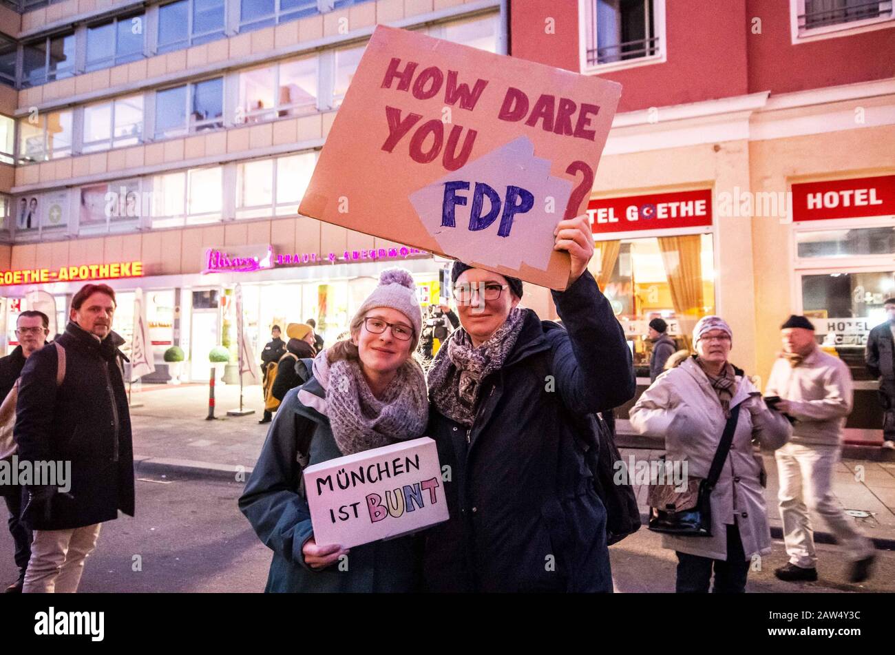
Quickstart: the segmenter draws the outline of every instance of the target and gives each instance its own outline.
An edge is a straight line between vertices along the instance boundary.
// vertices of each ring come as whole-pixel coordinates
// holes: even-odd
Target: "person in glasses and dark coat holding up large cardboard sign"
[[[456,262],[462,329],[429,372],[450,519],[423,533],[427,591],[612,591],[606,510],[575,417],[635,393],[625,333],[587,271],[587,217],[558,224],[571,256],[553,292],[566,329],[517,305],[522,281]]]

